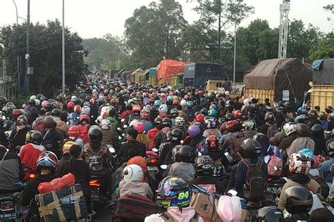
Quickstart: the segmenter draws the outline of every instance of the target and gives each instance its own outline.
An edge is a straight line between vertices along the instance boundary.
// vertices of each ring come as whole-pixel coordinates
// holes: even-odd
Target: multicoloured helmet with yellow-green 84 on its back
[[[182,178],[167,176],[159,183],[158,192],[165,208],[187,207],[190,204],[191,190]]]

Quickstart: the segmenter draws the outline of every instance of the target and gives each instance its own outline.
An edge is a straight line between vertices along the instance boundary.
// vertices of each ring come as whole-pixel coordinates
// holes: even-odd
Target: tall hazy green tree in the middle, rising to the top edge
[[[151,2],[137,8],[125,21],[125,41],[137,67],[155,67],[162,59],[181,53],[180,32],[187,24],[182,6],[175,0]]]

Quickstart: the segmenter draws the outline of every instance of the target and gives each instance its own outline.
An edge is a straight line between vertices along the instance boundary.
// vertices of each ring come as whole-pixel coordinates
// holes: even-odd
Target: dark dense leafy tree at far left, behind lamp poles
[[[4,44],[4,58],[8,74],[16,78],[17,56],[22,56],[22,70],[25,73],[26,25],[6,26],[1,30]],[[82,70],[83,58],[87,54],[82,46],[82,39],[77,33],[65,30],[66,47],[66,84],[78,84]],[[52,95],[52,90],[61,87],[61,23],[48,21],[47,25],[38,22],[30,25],[30,66],[34,74],[30,76],[30,92]],[[23,81],[23,77],[21,78]],[[23,83],[21,84],[23,85]]]

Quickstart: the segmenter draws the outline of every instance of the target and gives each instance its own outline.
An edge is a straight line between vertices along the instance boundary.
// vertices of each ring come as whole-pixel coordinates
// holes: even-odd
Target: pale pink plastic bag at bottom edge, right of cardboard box
[[[240,197],[221,196],[216,210],[222,221],[239,222],[242,215]]]

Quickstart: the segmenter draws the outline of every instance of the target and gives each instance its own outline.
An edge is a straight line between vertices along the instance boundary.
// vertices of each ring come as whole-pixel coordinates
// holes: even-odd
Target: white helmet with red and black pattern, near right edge
[[[308,174],[311,168],[311,161],[302,153],[292,153],[289,157],[289,170],[295,174]]]

